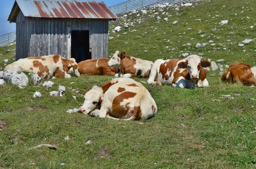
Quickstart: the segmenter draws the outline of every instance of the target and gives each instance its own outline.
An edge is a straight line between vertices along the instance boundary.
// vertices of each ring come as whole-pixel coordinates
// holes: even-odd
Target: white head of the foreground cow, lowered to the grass
[[[84,104],[79,108],[79,112],[89,115],[93,110],[100,109],[103,99],[103,90],[101,87],[93,86],[84,95]]]

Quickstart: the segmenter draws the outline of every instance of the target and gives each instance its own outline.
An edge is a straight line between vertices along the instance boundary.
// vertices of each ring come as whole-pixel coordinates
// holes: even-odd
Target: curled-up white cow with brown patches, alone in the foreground
[[[119,77],[102,87],[93,86],[84,95],[79,112],[95,117],[145,121],[156,115],[157,105],[142,84]]]

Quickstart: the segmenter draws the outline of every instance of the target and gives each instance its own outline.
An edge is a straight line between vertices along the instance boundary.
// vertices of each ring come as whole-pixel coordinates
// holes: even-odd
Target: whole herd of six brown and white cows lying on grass
[[[32,72],[45,79],[79,77],[80,74],[119,77],[101,87],[93,86],[84,95],[84,104],[79,112],[95,117],[147,120],[156,115],[157,105],[148,90],[129,77],[145,77],[148,78],[147,83],[154,85],[208,87],[205,68],[209,66],[209,61],[201,60],[195,54],[180,59],[158,59],[153,63],[116,51],[111,59],[84,60],[80,63],[58,54],[27,57],[7,65],[5,71]],[[256,85],[256,66],[234,63],[224,72],[221,80]]]

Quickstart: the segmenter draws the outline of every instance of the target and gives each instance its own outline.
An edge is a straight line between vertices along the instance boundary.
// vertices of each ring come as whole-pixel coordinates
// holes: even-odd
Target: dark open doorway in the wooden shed
[[[92,59],[89,42],[89,31],[71,31],[71,57],[75,58],[77,63]]]

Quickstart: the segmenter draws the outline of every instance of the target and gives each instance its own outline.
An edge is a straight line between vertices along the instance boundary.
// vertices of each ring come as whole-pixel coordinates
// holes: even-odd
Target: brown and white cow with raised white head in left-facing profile
[[[122,77],[148,77],[153,62],[127,56],[125,51],[116,51],[107,64],[120,68]]]

